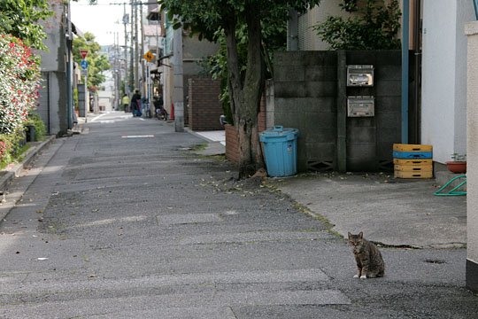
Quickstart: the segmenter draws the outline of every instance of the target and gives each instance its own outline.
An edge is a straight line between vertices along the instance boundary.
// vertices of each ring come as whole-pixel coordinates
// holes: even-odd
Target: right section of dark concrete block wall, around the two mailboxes
[[[375,101],[374,117],[347,118],[347,169],[392,170],[392,146],[401,140],[401,52],[347,51],[346,61],[374,66],[374,86],[348,87],[347,97]]]

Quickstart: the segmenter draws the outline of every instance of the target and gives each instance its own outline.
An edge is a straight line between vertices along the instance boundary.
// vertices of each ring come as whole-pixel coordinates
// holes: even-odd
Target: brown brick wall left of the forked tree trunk
[[[220,81],[205,77],[189,79],[189,128],[195,131],[220,130]]]

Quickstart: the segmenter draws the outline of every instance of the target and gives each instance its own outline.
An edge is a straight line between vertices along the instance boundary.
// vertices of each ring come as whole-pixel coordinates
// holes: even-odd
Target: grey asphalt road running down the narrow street
[[[104,114],[12,183],[2,318],[476,318],[464,249],[350,248],[293,198],[199,156],[172,123]]]

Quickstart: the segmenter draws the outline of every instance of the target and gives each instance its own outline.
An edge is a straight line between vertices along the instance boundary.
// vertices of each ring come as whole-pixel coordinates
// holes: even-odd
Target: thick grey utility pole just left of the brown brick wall
[[[184,132],[184,91],[182,78],[182,27],[173,31],[174,131]]]

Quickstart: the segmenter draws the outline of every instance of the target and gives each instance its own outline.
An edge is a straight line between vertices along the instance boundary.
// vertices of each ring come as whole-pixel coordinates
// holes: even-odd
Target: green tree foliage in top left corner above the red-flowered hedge
[[[50,17],[48,0],[0,1],[0,33],[14,35],[35,49],[46,49],[43,27],[37,22]]]

